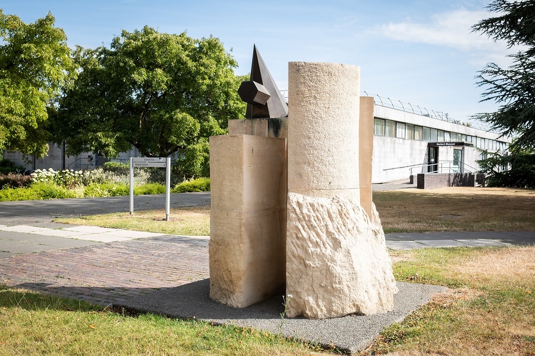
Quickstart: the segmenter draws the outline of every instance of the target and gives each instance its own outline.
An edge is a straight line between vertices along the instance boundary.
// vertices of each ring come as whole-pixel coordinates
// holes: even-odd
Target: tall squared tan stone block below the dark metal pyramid
[[[210,298],[246,307],[286,280],[286,139],[210,137]]]

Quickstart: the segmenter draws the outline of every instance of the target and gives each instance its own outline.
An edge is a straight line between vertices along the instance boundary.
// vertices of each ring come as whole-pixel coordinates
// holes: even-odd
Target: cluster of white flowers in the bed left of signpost
[[[87,171],[75,171],[73,169],[53,170],[52,168],[37,169],[32,174],[32,180],[35,183],[48,182],[59,186],[72,188],[75,186],[87,186],[91,183],[103,183],[105,176],[102,169]]]

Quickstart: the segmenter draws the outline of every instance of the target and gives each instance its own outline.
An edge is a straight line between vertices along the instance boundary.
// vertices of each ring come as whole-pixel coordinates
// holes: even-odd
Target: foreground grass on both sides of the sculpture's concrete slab
[[[362,355],[535,355],[535,247],[391,251],[396,280],[448,286]],[[0,355],[310,355],[261,330],[0,288]]]

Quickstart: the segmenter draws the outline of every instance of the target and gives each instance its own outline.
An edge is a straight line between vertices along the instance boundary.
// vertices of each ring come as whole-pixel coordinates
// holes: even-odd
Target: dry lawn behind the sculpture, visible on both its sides
[[[535,189],[439,188],[374,192],[385,233],[535,231]],[[210,207],[92,215],[55,221],[172,235],[209,235]]]

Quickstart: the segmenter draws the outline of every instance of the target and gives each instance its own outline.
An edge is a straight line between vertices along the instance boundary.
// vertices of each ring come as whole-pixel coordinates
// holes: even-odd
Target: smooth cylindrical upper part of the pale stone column
[[[288,192],[360,202],[360,67],[288,64]]]

